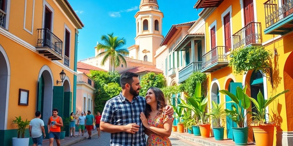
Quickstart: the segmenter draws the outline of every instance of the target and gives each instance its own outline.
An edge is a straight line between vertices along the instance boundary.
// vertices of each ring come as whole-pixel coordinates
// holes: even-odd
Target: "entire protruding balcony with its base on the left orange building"
[[[38,29],[36,50],[51,60],[62,60],[63,42],[49,29]]]

